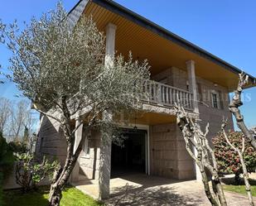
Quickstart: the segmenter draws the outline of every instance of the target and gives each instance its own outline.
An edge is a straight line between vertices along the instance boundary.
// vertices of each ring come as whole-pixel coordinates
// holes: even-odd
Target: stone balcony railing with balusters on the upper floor
[[[148,95],[147,98],[142,98],[142,101],[167,108],[171,108],[174,103],[179,102],[183,108],[193,110],[193,94],[191,92],[152,80],[145,81],[144,89]]]

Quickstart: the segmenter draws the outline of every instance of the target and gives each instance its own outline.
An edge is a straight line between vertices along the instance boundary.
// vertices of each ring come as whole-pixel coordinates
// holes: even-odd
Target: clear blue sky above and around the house
[[[3,22],[29,21],[40,17],[56,5],[56,0],[8,0],[0,7]],[[78,0],[62,1],[66,10]],[[188,41],[210,51],[232,65],[256,76],[256,1],[248,0],[116,0],[133,12],[138,12],[152,22],[176,33]],[[8,52],[0,46],[0,64],[8,65]],[[0,96],[14,98],[15,85],[0,85]],[[251,101],[246,101],[242,111],[249,127],[256,126],[256,88],[247,89]]]

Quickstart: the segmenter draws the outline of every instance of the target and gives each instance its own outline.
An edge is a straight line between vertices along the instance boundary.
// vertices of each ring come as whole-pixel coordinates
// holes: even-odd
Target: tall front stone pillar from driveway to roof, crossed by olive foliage
[[[106,56],[105,66],[111,69],[114,65],[114,44],[117,26],[109,23],[106,27]],[[103,120],[108,123],[112,121],[111,111],[105,111]],[[100,155],[99,155],[99,199],[109,199],[109,185],[111,172],[111,137],[104,129],[101,131]]]

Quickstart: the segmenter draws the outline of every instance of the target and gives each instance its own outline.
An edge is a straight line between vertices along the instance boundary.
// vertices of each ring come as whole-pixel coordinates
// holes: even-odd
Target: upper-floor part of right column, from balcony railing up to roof
[[[198,98],[197,98],[197,91],[196,91],[195,61],[193,60],[186,61],[186,69],[188,74],[189,90],[191,93],[193,93],[194,112],[199,113]]]

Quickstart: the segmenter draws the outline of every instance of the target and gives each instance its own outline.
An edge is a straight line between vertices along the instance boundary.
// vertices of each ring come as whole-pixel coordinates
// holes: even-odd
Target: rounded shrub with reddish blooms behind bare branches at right
[[[238,146],[240,149],[242,148],[242,132],[229,132],[228,137],[229,141],[234,144],[234,146]],[[213,139],[213,144],[215,146],[215,156],[220,172],[225,174],[242,173],[239,155],[225,141],[225,137],[222,133],[219,133],[218,136]],[[255,170],[256,151],[254,151],[254,148],[248,141],[245,142],[244,161],[249,172]]]

